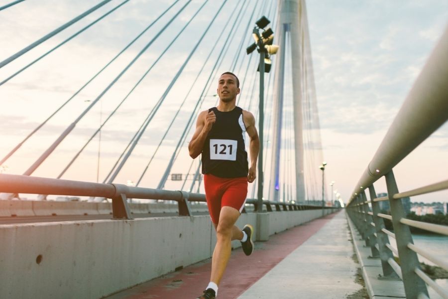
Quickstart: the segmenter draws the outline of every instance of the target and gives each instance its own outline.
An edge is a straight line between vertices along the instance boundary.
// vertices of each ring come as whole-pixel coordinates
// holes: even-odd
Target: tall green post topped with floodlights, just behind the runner
[[[258,154],[258,193],[257,193],[257,212],[263,211],[263,123],[264,123],[264,73],[269,73],[271,69],[270,54],[275,54],[278,51],[278,46],[273,45],[274,32],[270,27],[264,29],[271,21],[262,16],[255,22],[256,26],[253,28],[252,36],[255,40],[253,44],[246,48],[246,53],[250,54],[255,49],[260,53],[260,62],[258,64],[258,71],[260,72],[260,101],[258,111],[260,114],[258,122],[260,151]],[[260,34],[260,30],[262,30]]]

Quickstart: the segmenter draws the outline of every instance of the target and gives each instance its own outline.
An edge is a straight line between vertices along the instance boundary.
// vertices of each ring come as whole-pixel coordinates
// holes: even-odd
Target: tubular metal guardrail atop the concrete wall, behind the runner
[[[130,187],[123,184],[103,184],[84,181],[74,181],[56,178],[34,177],[27,175],[0,174],[0,192],[30,193],[69,196],[92,196],[112,199],[112,216],[114,219],[132,219],[127,198],[158,199],[177,201],[179,216],[191,216],[191,201],[206,202],[205,194],[185,191],[160,190],[141,187]],[[247,199],[257,210],[258,201]],[[299,211],[322,209],[317,205],[263,201],[266,211]],[[332,207],[326,207],[332,208]],[[245,212],[245,211],[244,211]]]

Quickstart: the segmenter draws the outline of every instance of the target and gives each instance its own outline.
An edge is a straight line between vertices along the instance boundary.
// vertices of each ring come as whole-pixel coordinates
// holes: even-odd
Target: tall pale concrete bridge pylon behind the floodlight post
[[[304,0],[282,0],[280,1],[278,8],[278,20],[277,20],[277,30],[280,38],[280,55],[278,59],[280,63],[276,64],[276,78],[274,85],[274,126],[273,126],[273,142],[272,142],[272,165],[270,169],[271,180],[270,183],[270,197],[272,200],[277,200],[279,194],[277,192],[278,188],[278,175],[280,167],[280,139],[281,139],[281,106],[285,104],[284,91],[285,86],[285,56],[290,54],[293,59],[291,60],[292,67],[292,91],[294,99],[294,148],[295,148],[295,187],[298,200],[304,201],[306,199],[305,188],[309,189],[305,185],[305,178],[307,173],[305,173],[304,167],[304,147],[306,140],[307,131],[306,126],[308,125],[305,120],[305,102],[309,93],[313,94],[313,101],[315,101],[315,87],[314,80],[312,79],[312,65],[309,63],[311,60],[311,51],[309,43],[309,32],[307,25],[307,13],[306,5]],[[284,49],[286,47],[286,49]],[[288,64],[288,63],[287,63]],[[288,64],[289,65],[289,64]],[[313,86],[311,86],[313,85]],[[314,120],[314,118],[312,118]],[[317,119],[318,121],[318,119]],[[314,126],[314,125],[313,125]],[[319,127],[316,124],[316,127]],[[314,131],[314,130],[313,130]],[[320,135],[317,136],[320,138]],[[317,138],[316,136],[314,138]],[[320,144],[320,140],[313,141],[314,144]],[[320,149],[321,150],[321,147]],[[322,161],[320,161],[322,162]],[[312,171],[314,168],[312,168]]]

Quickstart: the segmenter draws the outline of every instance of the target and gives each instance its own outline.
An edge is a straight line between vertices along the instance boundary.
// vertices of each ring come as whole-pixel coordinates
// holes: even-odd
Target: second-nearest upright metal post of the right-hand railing
[[[376,198],[375,187],[371,185],[369,187],[370,193],[370,202],[372,203],[372,213],[373,213],[373,223],[375,223],[375,231],[376,231],[376,243],[378,244],[379,256],[381,259],[381,266],[383,268],[383,276],[378,277],[379,279],[399,279],[398,275],[395,271],[390,267],[387,260],[389,258],[394,258],[394,254],[392,251],[387,248],[386,244],[389,243],[389,236],[384,233],[382,230],[385,228],[384,219],[378,217],[378,213],[380,213],[379,202],[373,201]]]

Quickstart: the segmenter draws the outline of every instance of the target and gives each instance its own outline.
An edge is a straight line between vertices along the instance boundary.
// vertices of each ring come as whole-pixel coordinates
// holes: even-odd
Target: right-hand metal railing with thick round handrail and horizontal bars
[[[393,173],[395,165],[447,121],[447,82],[448,27],[346,205],[347,213],[365,240],[365,245],[370,247],[372,257],[381,258],[382,279],[402,279],[408,299],[428,298],[426,285],[442,298],[448,298],[448,292],[421,270],[417,255],[446,270],[448,261],[432,254],[430,250],[415,246],[410,232],[412,226],[448,235],[448,226],[406,219],[401,201],[401,198],[407,196],[446,190],[448,180],[398,192]],[[383,176],[388,196],[376,198],[373,183]],[[367,189],[370,200],[366,197]],[[379,201],[383,200],[389,201],[391,215],[380,213]],[[385,229],[383,219],[392,221],[394,233]],[[396,240],[397,249],[389,244],[389,237]],[[394,260],[394,255],[400,259],[399,264]]]

